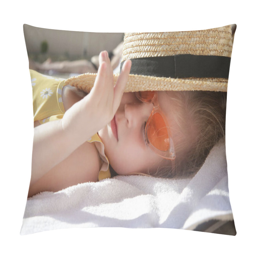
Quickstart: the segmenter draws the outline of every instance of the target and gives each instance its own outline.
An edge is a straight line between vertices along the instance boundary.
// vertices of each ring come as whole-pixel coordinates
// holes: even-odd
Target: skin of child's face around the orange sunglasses
[[[165,92],[158,92],[158,101],[173,131],[172,139],[175,144],[174,131],[177,127],[173,121],[175,114],[170,111],[174,103]],[[135,93],[124,93],[114,117],[117,132],[115,128],[113,129],[115,127],[113,121],[99,131],[99,136],[105,146],[105,153],[118,174],[147,173],[149,168],[157,168],[163,162],[161,156],[147,147],[144,139],[144,125],[152,110],[153,104],[142,103]]]

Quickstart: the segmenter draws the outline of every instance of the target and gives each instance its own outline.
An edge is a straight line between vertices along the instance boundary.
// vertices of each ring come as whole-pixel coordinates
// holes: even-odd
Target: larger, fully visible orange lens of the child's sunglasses
[[[148,122],[147,136],[149,142],[157,149],[169,149],[169,135],[163,117],[159,113],[153,114]]]

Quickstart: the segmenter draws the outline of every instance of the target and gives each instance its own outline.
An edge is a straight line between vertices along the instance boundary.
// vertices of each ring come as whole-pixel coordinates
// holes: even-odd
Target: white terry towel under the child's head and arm
[[[192,179],[116,176],[35,195],[21,235],[72,227],[193,230],[208,220],[233,220],[224,140]]]

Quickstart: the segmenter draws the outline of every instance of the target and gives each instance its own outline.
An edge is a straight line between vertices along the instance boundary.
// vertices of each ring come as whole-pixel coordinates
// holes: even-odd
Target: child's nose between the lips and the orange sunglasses
[[[127,119],[128,127],[141,126],[148,120],[153,110],[153,104],[148,103],[127,103],[124,105],[124,116]]]

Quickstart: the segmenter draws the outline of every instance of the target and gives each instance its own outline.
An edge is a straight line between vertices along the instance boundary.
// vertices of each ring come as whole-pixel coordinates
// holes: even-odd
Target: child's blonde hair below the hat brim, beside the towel
[[[174,141],[175,161],[163,161],[164,166],[148,170],[163,178],[191,177],[203,165],[212,147],[225,137],[226,92],[183,91],[166,92],[175,101],[178,140]]]

